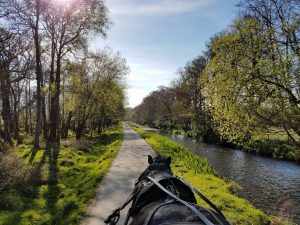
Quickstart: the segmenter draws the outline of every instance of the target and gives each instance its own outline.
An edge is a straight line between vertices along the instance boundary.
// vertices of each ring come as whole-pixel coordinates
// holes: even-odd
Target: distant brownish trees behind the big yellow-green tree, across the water
[[[215,133],[200,79],[206,63],[203,56],[188,62],[170,87],[159,87],[133,110],[132,120],[161,129],[181,129],[197,139],[212,141]]]

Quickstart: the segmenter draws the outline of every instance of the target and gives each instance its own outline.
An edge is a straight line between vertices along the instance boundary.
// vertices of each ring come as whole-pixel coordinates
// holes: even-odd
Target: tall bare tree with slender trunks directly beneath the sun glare
[[[62,60],[70,53],[84,49],[90,32],[105,35],[109,21],[102,0],[74,0],[65,7],[48,2],[45,26],[51,46],[50,132],[47,149],[60,148],[60,83]],[[55,63],[55,65],[54,65]]]

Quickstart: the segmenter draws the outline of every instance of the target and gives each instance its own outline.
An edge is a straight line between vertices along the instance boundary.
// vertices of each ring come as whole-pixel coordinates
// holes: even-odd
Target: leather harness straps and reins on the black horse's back
[[[172,204],[174,202],[180,202],[181,204],[185,205],[189,209],[191,209],[195,215],[197,215],[201,221],[205,225],[214,225],[200,210],[198,210],[196,205],[196,199],[194,198],[193,192],[195,192],[201,199],[203,199],[207,204],[209,204],[214,210],[215,213],[219,214],[219,216],[226,221],[226,224],[222,223],[213,213],[211,213],[209,210],[210,215],[212,215],[220,224],[224,225],[231,225],[226,217],[223,215],[223,213],[211,202],[209,201],[200,191],[195,189],[189,182],[187,182],[183,177],[180,177],[180,179],[172,176],[169,173],[158,173],[159,171],[151,171],[149,173],[144,173],[140,176],[136,183],[136,187],[129,196],[129,198],[125,201],[125,203],[114,210],[110,216],[105,220],[105,223],[108,225],[116,225],[120,218],[120,211],[124,209],[131,201],[132,207],[128,210],[124,225],[127,225],[130,219],[130,216],[137,215],[138,212],[142,209],[142,207],[147,204],[147,201],[145,199],[149,199],[148,194],[149,193],[155,193],[155,189],[158,189],[162,191],[163,193],[167,194],[167,196],[171,197],[169,201],[159,204],[158,206],[154,207],[148,214],[146,220],[144,221],[144,225],[148,225],[158,209],[160,209],[163,206],[166,206],[168,204]],[[165,188],[162,183],[170,182],[173,185],[168,185],[167,188]],[[175,184],[174,184],[175,183]],[[185,196],[185,199],[180,196],[180,192],[177,190],[178,185],[183,185],[182,187],[185,189],[185,192],[187,193],[187,196],[190,198],[187,198]],[[172,188],[173,186],[173,188]],[[169,190],[168,190],[169,189]],[[162,193],[161,192],[161,193]],[[156,191],[157,193],[157,191]],[[150,198],[153,200],[152,198]],[[204,209],[204,208],[203,208]],[[205,210],[205,209],[204,209]]]

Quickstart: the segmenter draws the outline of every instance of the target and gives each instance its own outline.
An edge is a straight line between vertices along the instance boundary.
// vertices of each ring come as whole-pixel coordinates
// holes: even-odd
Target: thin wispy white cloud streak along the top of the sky
[[[121,15],[172,15],[188,13],[213,4],[216,0],[110,0],[109,9]]]

